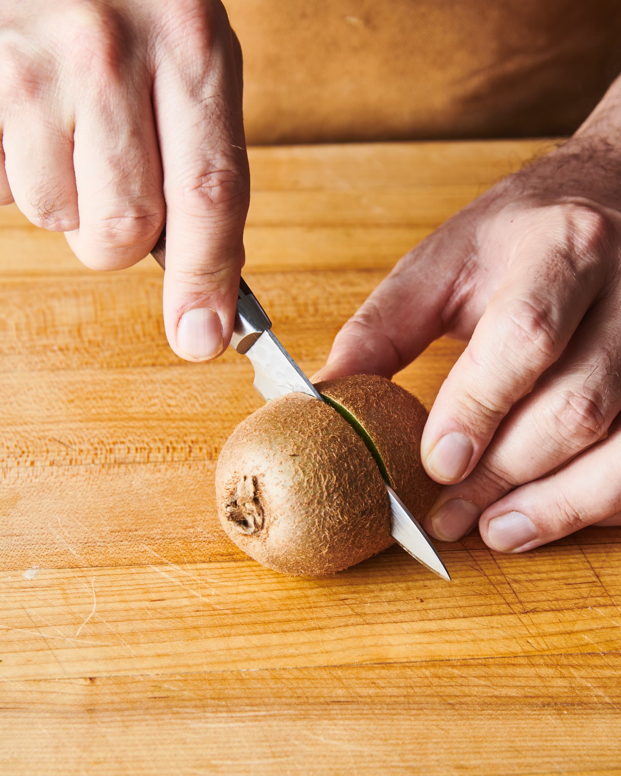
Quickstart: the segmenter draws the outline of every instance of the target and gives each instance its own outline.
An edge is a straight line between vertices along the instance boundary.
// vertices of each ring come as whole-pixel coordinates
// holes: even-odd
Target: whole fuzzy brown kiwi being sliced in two
[[[422,468],[427,412],[407,390],[373,375],[319,383],[269,401],[234,429],[217,462],[227,535],[283,573],[335,573],[389,547],[390,483],[415,518],[439,486]]]

